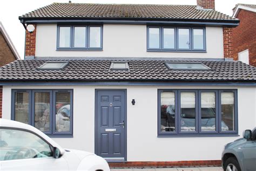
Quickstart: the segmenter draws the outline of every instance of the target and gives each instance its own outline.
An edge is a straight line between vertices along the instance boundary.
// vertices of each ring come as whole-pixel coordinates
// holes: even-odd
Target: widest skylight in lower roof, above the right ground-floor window
[[[210,70],[210,68],[206,65],[194,62],[173,62],[166,63],[166,65],[172,70]]]

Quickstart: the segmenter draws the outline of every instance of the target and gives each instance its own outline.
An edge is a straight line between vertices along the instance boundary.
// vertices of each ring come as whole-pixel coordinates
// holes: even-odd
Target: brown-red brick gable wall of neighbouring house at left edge
[[[3,34],[0,32],[0,67],[16,60]]]

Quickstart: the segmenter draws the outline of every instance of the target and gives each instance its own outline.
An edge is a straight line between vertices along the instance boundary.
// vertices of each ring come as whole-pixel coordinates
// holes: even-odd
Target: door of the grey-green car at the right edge
[[[243,162],[245,171],[256,170],[256,140],[247,140],[243,149]]]

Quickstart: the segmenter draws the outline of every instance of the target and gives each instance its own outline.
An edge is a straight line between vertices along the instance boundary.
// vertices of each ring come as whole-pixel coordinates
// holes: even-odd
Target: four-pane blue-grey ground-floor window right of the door
[[[237,135],[237,90],[158,90],[158,136]]]

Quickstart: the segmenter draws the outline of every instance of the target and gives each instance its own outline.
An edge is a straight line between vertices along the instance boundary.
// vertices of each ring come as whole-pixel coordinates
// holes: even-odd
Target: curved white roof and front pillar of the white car
[[[50,143],[51,146],[57,147],[60,150],[60,153],[64,154],[65,150],[58,145],[55,141],[53,141],[49,136],[45,135],[42,131],[39,131],[39,129],[28,125],[23,124],[22,122],[13,121],[9,119],[0,119],[0,128],[7,127],[7,128],[16,128],[16,129],[25,129],[26,131],[33,132],[39,136],[41,136],[44,140]]]

